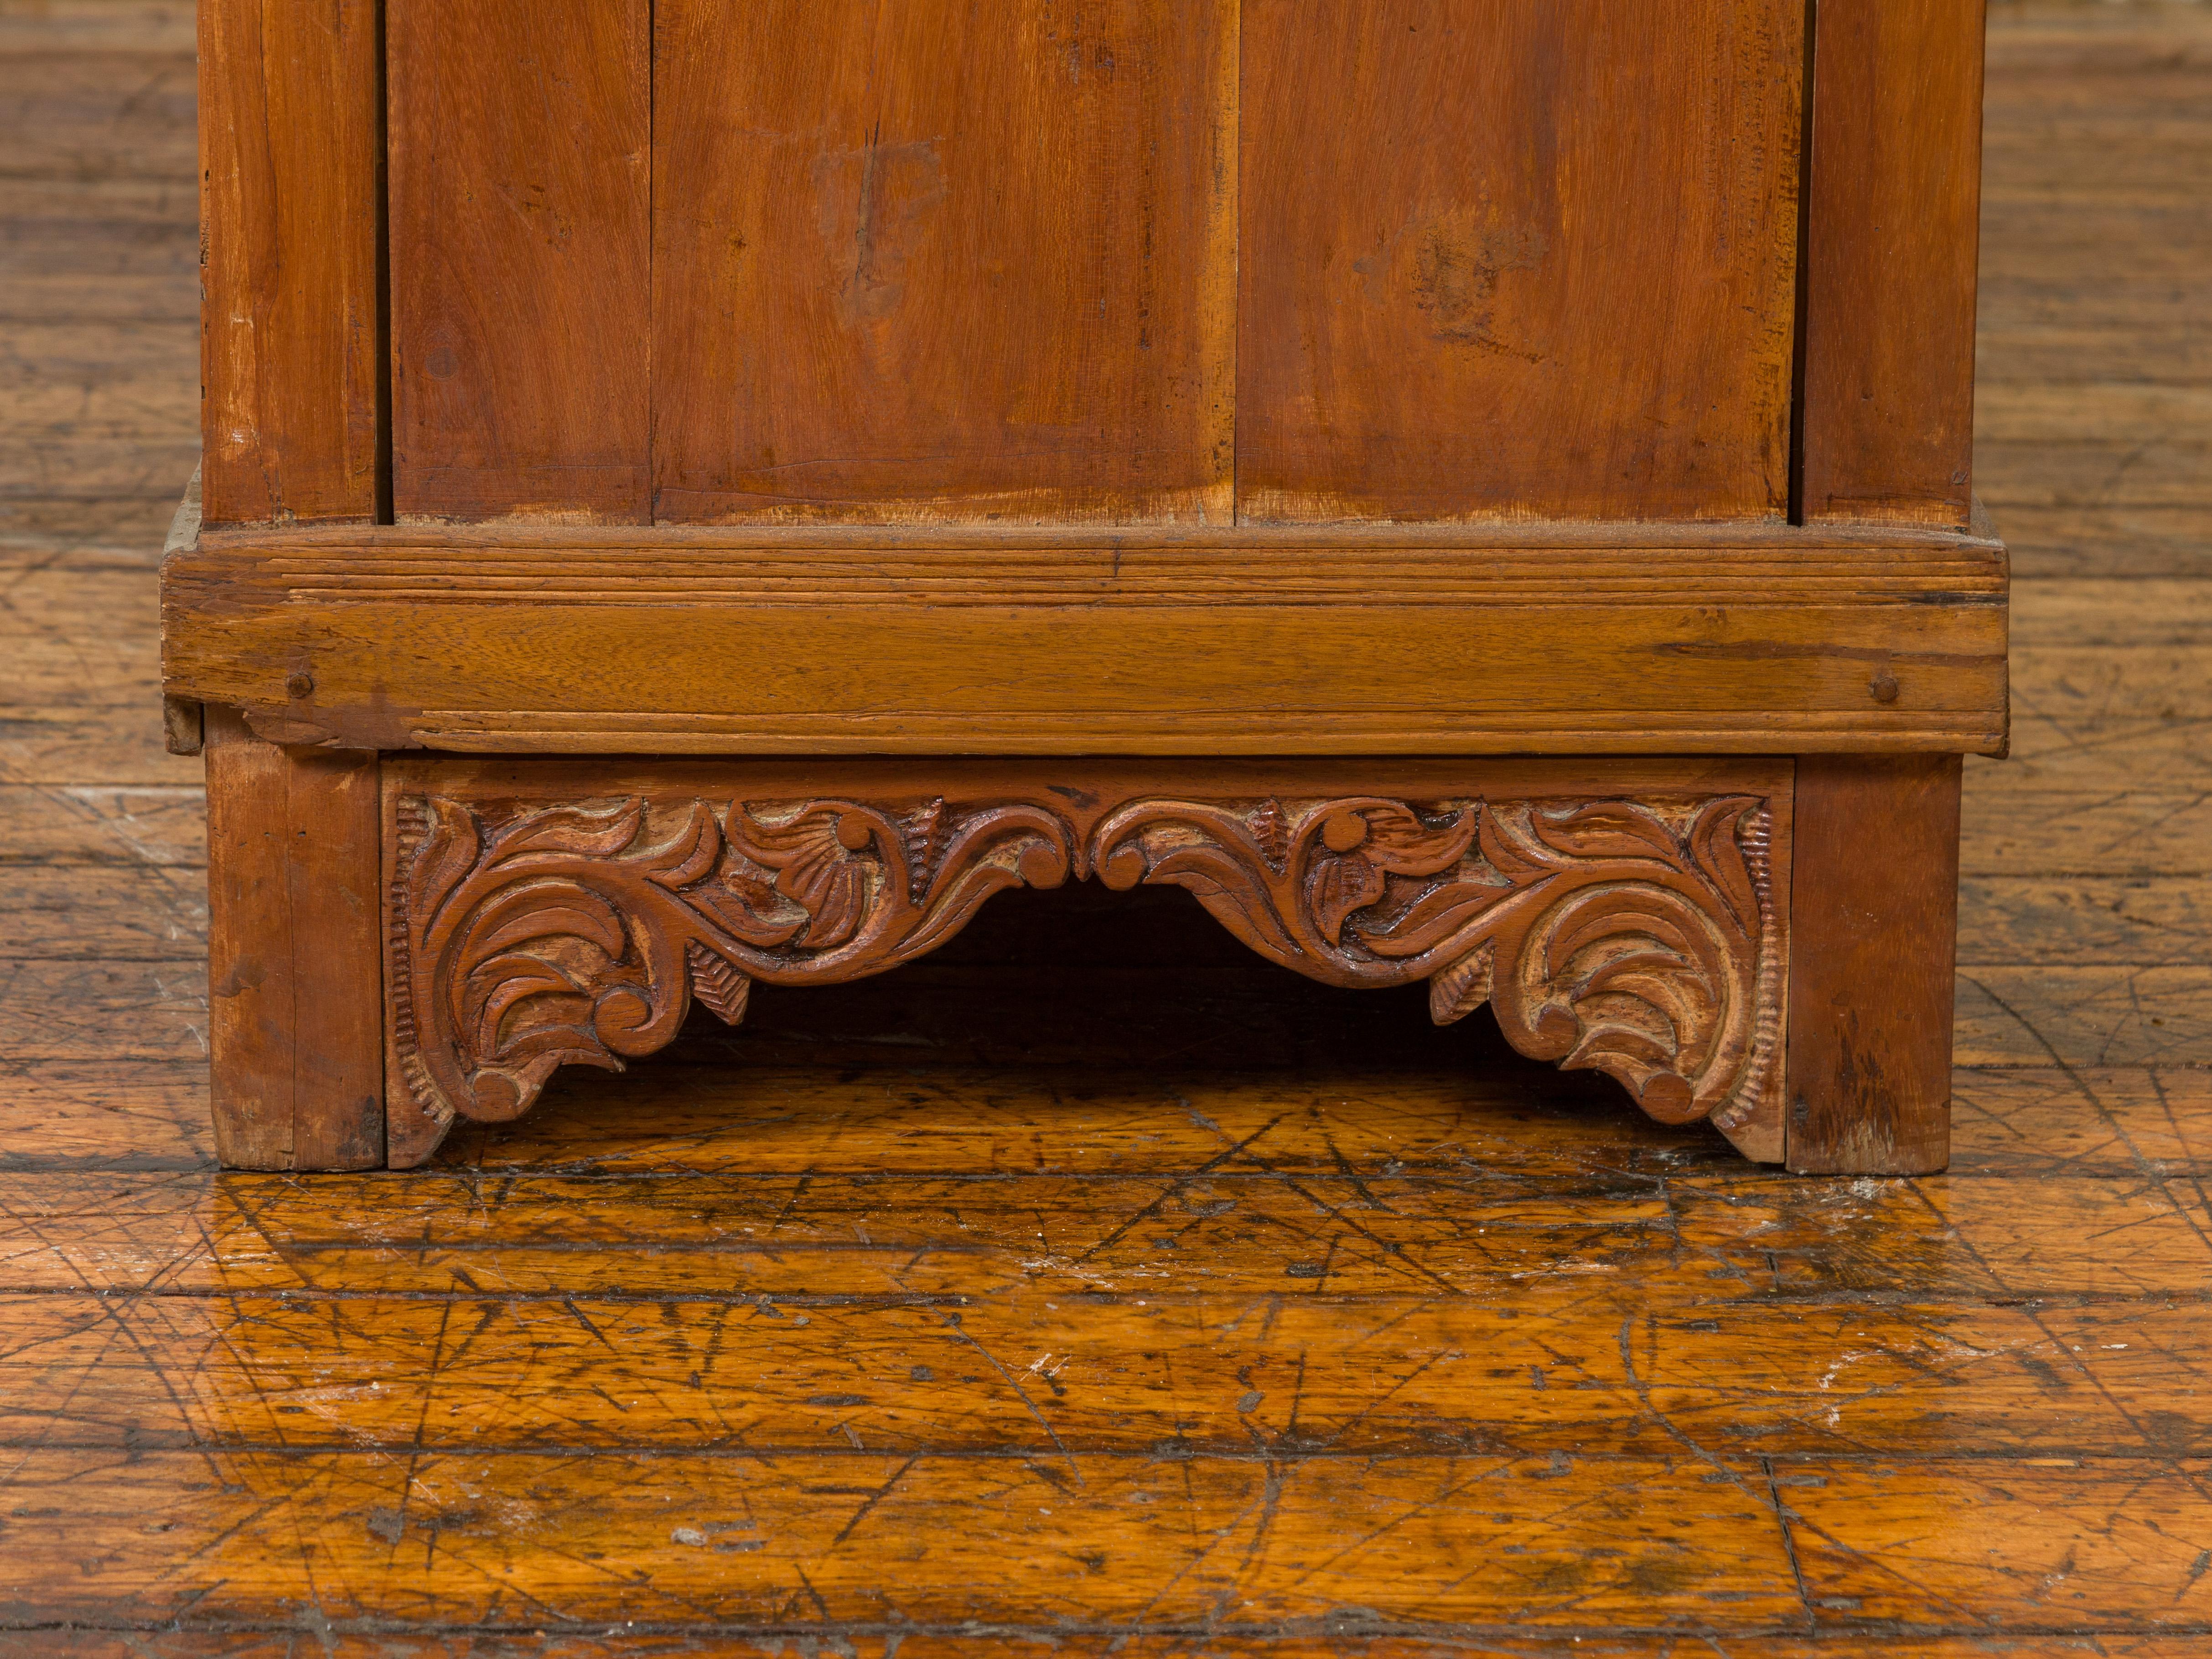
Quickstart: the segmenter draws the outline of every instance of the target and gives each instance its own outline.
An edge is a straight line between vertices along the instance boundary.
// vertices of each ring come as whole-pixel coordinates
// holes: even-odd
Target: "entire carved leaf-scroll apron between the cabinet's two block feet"
[[[626,796],[394,803],[389,1144],[520,1115],[557,1066],[619,1071],[692,1000],[880,973],[993,891],[1097,874],[1190,889],[1327,984],[1489,1002],[1522,1053],[1734,1130],[1778,1075],[1783,945],[1763,794],[1407,801]]]

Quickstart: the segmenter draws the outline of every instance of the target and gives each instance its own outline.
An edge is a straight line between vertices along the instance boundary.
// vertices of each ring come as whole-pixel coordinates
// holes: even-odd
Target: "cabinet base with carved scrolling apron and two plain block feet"
[[[378,759],[210,712],[208,776],[243,1168],[422,1164],[692,1002],[737,1024],[757,980],[883,973],[995,891],[1093,878],[1183,887],[1325,984],[1425,980],[1438,1022],[1489,1002],[1754,1159],[1947,1148],[1951,757]]]

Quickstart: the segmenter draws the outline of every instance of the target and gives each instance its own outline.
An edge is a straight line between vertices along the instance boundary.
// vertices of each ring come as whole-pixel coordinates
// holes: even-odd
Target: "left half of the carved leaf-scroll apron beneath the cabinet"
[[[723,818],[692,801],[648,845],[648,803],[635,796],[489,830],[440,796],[405,801],[398,816],[394,1035],[429,1126],[409,1141],[425,1157],[453,1117],[520,1115],[560,1066],[619,1071],[666,1046],[692,998],[737,1024],[752,980],[894,967],[991,891],[1064,880],[1073,858],[1066,825],[1026,805],[973,814],[927,876],[909,849],[931,847],[936,825],[909,834],[911,823],[845,801],[732,803]]]

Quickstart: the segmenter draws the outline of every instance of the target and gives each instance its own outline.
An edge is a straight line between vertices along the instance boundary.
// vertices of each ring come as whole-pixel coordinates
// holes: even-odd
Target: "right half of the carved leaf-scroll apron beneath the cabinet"
[[[1256,814],[1146,801],[1102,825],[1097,856],[1117,885],[1190,887],[1248,945],[1318,980],[1451,975],[1431,991],[1440,1022],[1489,1000],[1522,1053],[1606,1071],[1655,1117],[1686,1121],[1745,1082],[1772,900],[1739,832],[1761,807],[1725,796],[1677,823],[1639,801],[1327,801],[1292,821],[1276,867]]]

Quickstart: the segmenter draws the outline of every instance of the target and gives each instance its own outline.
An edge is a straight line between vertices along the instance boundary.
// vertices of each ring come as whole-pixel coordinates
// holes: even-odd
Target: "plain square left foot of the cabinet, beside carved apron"
[[[208,710],[208,1048],[230,1168],[385,1161],[376,770]]]

